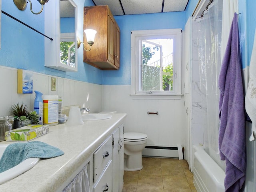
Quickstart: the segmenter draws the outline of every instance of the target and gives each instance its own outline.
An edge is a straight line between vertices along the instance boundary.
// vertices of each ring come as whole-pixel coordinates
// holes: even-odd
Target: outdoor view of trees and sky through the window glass
[[[142,91],[173,90],[173,39],[142,40]]]

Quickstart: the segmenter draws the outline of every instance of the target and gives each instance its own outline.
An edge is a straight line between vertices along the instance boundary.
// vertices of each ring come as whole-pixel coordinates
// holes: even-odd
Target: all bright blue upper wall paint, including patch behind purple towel
[[[92,6],[91,0],[74,0],[78,5],[78,36],[83,36],[83,6]],[[130,32],[132,30],[153,30],[182,28],[191,16],[197,0],[190,0],[186,11],[160,14],[115,16],[121,31],[120,70],[101,71],[83,62],[83,50],[78,50],[78,72],[62,72],[44,67],[44,36],[2,14],[0,65],[32,70],[42,74],[70,78],[84,82],[105,85],[131,84]],[[45,5],[47,6],[47,4]],[[240,44],[243,66],[250,62],[256,23],[255,0],[239,0]],[[33,9],[40,9],[39,3]],[[13,1],[2,1],[2,10],[22,20],[40,32],[44,32],[44,13],[34,15],[28,8],[20,11]],[[46,34],[47,35],[47,34]]]

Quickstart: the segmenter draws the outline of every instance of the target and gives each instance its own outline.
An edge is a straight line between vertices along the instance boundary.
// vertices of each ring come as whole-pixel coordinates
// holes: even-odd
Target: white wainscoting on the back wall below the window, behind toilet
[[[148,135],[148,146],[177,146],[185,144],[186,108],[180,100],[141,100],[130,96],[131,86],[102,86],[103,110],[127,113],[124,132],[142,132]],[[147,114],[147,112],[158,112]],[[185,148],[188,146],[185,146]]]

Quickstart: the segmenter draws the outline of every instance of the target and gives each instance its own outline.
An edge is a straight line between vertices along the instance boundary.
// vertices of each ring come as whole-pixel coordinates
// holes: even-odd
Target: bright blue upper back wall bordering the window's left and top
[[[103,84],[131,84],[131,31],[182,28],[186,24],[185,12],[115,16],[120,27],[120,69],[103,71]]]

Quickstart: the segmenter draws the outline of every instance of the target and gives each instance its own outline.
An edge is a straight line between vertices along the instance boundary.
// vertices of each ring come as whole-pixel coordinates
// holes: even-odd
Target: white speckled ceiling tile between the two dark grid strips
[[[121,0],[126,15],[158,13],[162,11],[163,0]]]

